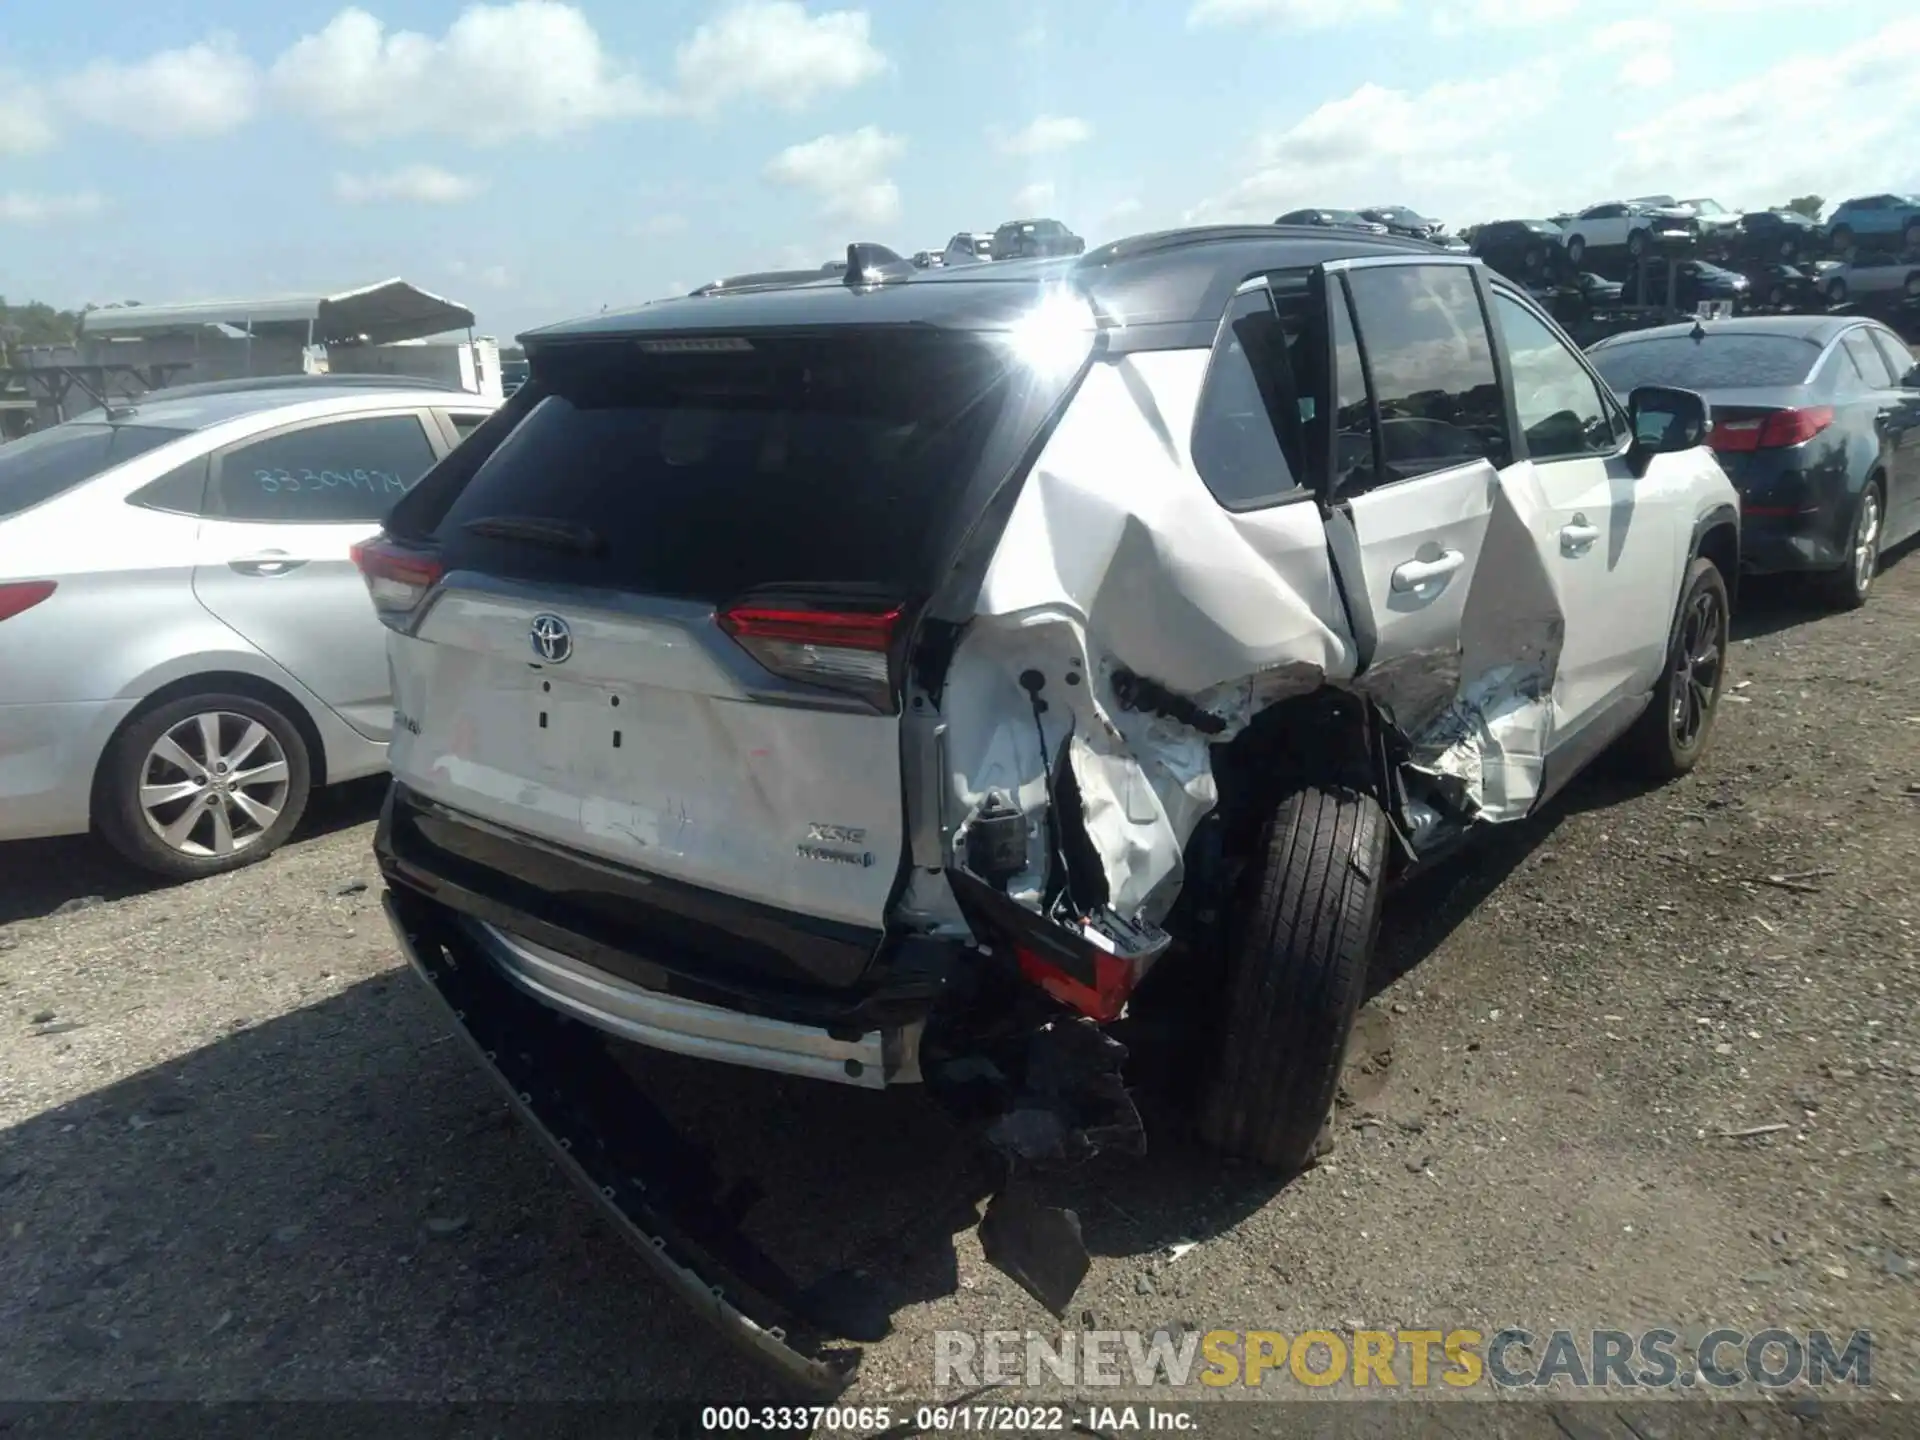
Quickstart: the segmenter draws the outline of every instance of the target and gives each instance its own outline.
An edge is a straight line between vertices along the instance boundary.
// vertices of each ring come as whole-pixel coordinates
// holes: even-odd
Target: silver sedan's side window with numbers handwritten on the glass
[[[221,515],[284,524],[380,520],[432,465],[434,447],[411,415],[309,424],[227,451]]]

